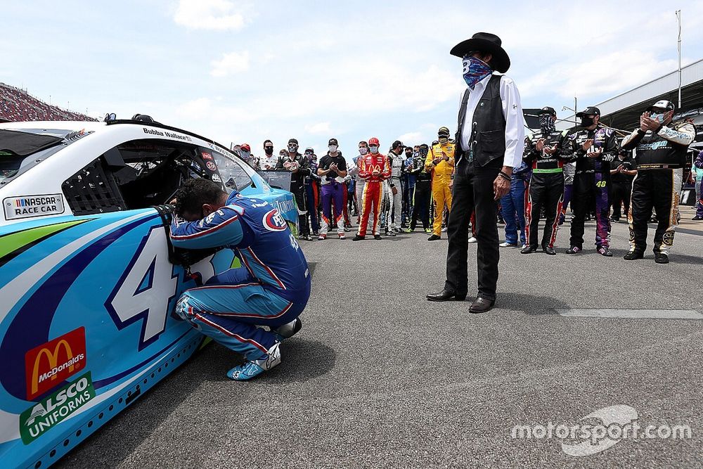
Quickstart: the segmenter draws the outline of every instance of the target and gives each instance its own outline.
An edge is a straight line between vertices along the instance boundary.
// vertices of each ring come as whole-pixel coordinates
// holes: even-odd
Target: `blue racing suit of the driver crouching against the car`
[[[183,292],[176,314],[222,345],[256,360],[266,355],[276,328],[299,316],[310,296],[310,271],[288,224],[265,200],[233,192],[227,205],[202,220],[174,217],[175,247],[234,250],[243,267]]]

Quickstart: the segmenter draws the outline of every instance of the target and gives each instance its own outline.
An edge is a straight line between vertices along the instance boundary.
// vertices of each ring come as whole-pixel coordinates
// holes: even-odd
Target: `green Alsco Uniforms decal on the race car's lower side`
[[[20,436],[30,444],[95,397],[90,371],[20,414]]]

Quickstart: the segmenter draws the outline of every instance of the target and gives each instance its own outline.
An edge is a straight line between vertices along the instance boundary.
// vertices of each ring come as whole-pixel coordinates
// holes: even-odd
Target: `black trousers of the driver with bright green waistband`
[[[525,237],[527,245],[537,247],[539,213],[544,207],[546,220],[542,247],[554,247],[557,238],[557,214],[562,212],[564,173],[533,173],[529,181],[529,198],[525,206]]]

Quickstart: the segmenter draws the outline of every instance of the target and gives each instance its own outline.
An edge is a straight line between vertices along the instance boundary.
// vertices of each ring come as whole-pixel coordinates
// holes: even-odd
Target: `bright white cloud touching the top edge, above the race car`
[[[227,0],[180,0],[174,21],[189,30],[240,30],[244,15],[234,10]]]

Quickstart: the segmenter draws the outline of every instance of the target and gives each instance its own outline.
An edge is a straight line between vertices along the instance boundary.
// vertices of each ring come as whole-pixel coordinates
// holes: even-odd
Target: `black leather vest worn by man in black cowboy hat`
[[[471,141],[473,142],[475,165],[483,167],[491,161],[498,166],[503,164],[505,157],[505,117],[503,116],[503,100],[501,100],[501,76],[492,75],[486,84],[484,94],[476,106],[473,118]],[[464,91],[459,108],[459,118],[456,131],[456,141],[459,155],[456,162],[464,158],[463,153],[468,148],[461,146],[464,118],[466,117],[466,103],[469,101],[470,91]]]

